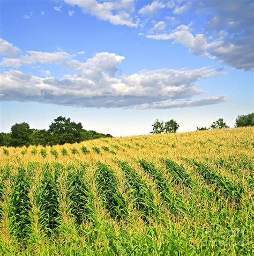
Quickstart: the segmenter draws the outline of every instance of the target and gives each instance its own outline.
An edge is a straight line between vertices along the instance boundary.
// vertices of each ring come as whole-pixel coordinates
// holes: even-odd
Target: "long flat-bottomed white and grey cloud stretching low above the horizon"
[[[11,44],[10,44],[11,45]],[[12,46],[13,47],[13,46]],[[151,108],[209,105],[211,101],[193,101],[193,96],[204,93],[195,83],[200,79],[225,74],[221,69],[141,70],[126,75],[117,68],[125,57],[115,53],[101,52],[85,62],[75,60],[76,54],[27,51],[16,58],[3,58],[1,65],[16,68],[0,75],[0,99],[4,101],[38,101],[76,107],[134,107],[144,104]],[[77,74],[66,74],[60,79],[24,74],[17,68],[32,64],[63,65]],[[50,75],[50,70],[44,76]],[[213,98],[221,103],[225,98]],[[158,105],[159,104],[159,105]],[[163,107],[162,107],[163,106]],[[139,107],[138,107],[139,108]],[[147,107],[146,107],[147,108]]]

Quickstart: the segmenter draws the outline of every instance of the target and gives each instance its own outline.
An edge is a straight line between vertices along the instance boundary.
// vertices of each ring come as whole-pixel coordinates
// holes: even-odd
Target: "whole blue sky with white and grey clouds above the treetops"
[[[113,136],[253,112],[252,0],[0,0],[0,131],[59,115]]]

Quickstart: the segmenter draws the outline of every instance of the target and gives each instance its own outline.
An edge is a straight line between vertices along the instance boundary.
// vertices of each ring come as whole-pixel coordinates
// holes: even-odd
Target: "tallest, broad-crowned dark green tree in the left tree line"
[[[52,135],[53,144],[75,143],[81,142],[81,132],[83,131],[82,124],[71,122],[70,118],[58,116],[49,126],[50,134]]]

